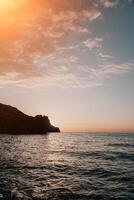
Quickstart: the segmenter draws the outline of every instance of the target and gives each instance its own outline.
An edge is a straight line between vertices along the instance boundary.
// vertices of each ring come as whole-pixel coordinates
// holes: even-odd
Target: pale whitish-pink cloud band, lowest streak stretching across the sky
[[[44,69],[44,68],[43,68]],[[17,72],[7,73],[0,77],[0,85],[16,85],[25,88],[95,88],[105,84],[108,78],[115,75],[129,73],[134,69],[134,60],[116,64],[103,63],[97,66],[92,65],[53,65],[46,67],[46,74],[31,77],[22,77]]]

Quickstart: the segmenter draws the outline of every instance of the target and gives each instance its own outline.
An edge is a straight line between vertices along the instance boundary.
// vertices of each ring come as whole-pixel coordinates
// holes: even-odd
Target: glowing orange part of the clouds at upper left
[[[93,1],[17,0],[0,13],[0,75],[38,76],[37,56],[48,56],[68,43],[74,34],[90,34],[85,21],[101,16]]]

